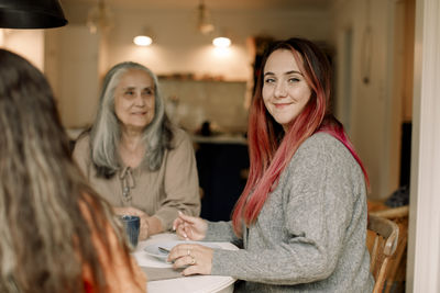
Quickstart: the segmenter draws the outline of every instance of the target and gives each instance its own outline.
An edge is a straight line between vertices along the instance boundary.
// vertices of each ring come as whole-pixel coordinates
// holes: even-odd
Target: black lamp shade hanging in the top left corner
[[[0,0],[0,27],[50,29],[66,24],[58,0]]]

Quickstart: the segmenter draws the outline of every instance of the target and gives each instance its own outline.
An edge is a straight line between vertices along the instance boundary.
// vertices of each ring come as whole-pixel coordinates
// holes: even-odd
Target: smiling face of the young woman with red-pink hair
[[[310,100],[311,90],[300,71],[294,54],[277,49],[264,66],[263,101],[284,131]]]

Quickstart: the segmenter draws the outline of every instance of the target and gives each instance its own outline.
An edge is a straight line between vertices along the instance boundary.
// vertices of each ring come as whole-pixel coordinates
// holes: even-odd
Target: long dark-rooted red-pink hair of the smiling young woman
[[[262,69],[268,56],[277,49],[293,52],[312,94],[283,136],[280,126],[268,114],[263,102],[264,72],[261,70],[249,117],[250,173],[232,214],[233,228],[239,237],[242,235],[242,222],[244,221],[244,224],[250,226],[256,221],[268,194],[277,185],[280,173],[298,147],[317,132],[329,133],[339,139],[359,162],[367,187],[370,184],[366,170],[345,135],[342,124],[327,112],[331,71],[327,57],[311,42],[290,38],[276,43],[267,50],[263,58]]]

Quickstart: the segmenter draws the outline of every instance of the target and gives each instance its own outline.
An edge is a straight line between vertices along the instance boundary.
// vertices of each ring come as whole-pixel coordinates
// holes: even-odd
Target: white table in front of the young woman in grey
[[[134,258],[141,267],[169,268],[169,263],[158,260],[145,253],[143,248],[147,245],[163,241],[178,240],[177,236],[172,233],[163,233],[150,237],[145,241],[140,241],[136,250],[133,252]],[[223,249],[238,249],[230,243],[216,243]],[[191,275],[176,279],[148,281],[148,293],[231,293],[235,279],[223,275]]]

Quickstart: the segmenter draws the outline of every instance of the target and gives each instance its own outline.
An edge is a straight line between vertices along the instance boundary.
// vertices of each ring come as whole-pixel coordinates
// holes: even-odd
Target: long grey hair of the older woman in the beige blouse
[[[139,69],[151,76],[155,90],[155,111],[153,121],[145,127],[142,140],[146,147],[142,166],[148,170],[157,170],[162,164],[165,149],[172,148],[173,132],[165,114],[165,104],[161,94],[156,75],[145,66],[125,61],[113,66],[105,77],[99,110],[90,132],[91,160],[98,176],[111,178],[120,168],[121,159],[118,145],[121,139],[121,123],[114,112],[114,90],[122,76],[129,69]]]

